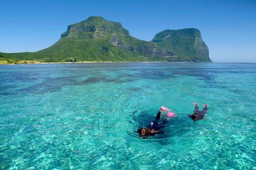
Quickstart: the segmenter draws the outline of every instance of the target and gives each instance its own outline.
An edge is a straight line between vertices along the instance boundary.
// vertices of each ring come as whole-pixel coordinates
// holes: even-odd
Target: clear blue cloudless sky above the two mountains
[[[0,52],[49,47],[89,16],[121,22],[141,40],[197,28],[214,62],[256,62],[256,0],[0,0]]]

